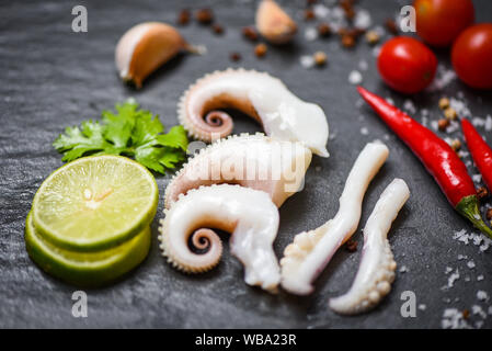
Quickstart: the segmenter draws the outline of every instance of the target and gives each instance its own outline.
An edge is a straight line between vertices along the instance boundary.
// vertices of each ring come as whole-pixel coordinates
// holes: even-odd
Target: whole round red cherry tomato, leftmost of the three
[[[382,80],[397,91],[415,93],[434,79],[437,58],[431,49],[410,36],[397,36],[382,45],[378,70]]]

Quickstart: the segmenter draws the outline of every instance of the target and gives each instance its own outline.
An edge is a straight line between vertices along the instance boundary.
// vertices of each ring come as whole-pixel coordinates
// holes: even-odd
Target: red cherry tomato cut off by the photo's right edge
[[[465,30],[453,45],[451,60],[456,73],[468,86],[492,89],[492,23]]]

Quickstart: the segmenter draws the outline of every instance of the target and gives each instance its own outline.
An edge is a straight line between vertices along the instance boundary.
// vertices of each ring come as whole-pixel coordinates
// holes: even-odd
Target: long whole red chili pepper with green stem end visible
[[[451,147],[431,129],[389,104],[385,99],[362,87],[357,87],[357,90],[382,121],[424,163],[455,210],[492,238],[492,230],[480,216],[473,181],[467,172],[467,167]]]

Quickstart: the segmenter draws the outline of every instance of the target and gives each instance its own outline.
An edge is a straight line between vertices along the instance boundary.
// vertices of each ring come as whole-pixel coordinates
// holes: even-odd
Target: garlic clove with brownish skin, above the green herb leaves
[[[116,45],[115,63],[119,77],[141,88],[151,72],[183,49],[187,49],[187,44],[173,26],[160,22],[137,24]]]

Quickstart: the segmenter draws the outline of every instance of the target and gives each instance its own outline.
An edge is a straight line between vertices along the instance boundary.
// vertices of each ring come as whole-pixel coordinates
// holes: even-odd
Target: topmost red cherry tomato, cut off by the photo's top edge
[[[416,33],[424,42],[448,46],[474,22],[471,0],[415,0]]]

